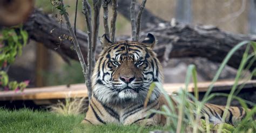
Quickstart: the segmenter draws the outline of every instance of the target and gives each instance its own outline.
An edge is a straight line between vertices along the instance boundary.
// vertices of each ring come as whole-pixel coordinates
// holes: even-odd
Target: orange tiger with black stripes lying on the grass
[[[154,36],[149,33],[141,42],[111,42],[103,35],[100,42],[103,50],[93,70],[92,97],[82,123],[166,124],[164,115],[150,112],[167,105],[157,86],[144,107],[150,85],[153,82],[163,83],[163,69],[153,51],[156,45]],[[202,112],[211,123],[220,123],[224,109],[224,106],[205,104]],[[234,123],[245,116],[244,108],[230,107],[225,122]]]

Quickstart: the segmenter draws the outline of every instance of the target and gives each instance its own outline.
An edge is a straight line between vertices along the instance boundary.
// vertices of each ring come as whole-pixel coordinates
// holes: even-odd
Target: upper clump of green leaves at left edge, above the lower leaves
[[[22,54],[26,45],[28,33],[20,28],[4,28],[0,35],[0,66],[13,63],[17,55]]]

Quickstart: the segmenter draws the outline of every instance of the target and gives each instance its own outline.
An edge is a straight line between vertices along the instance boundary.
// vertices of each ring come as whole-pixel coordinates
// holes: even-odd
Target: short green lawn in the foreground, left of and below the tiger
[[[59,115],[30,109],[0,109],[0,132],[137,132],[139,125],[86,125],[83,115]],[[144,128],[143,132],[163,127]]]

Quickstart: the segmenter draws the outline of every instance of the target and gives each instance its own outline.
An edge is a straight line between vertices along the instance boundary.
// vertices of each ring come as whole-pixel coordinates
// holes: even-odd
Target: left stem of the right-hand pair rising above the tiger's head
[[[132,25],[132,41],[135,41],[136,35],[136,23],[135,23],[135,2],[136,0],[131,1],[130,15],[131,15],[131,25]]]

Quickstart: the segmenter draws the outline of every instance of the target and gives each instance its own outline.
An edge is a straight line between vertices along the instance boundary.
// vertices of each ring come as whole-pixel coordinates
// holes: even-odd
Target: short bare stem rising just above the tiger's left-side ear
[[[108,4],[110,3],[110,0],[103,0],[102,2],[102,7],[103,7],[103,23],[104,23],[104,30],[107,38],[110,37],[110,32],[109,32],[109,23],[107,19],[109,18],[108,13],[109,13],[109,8]]]

